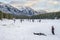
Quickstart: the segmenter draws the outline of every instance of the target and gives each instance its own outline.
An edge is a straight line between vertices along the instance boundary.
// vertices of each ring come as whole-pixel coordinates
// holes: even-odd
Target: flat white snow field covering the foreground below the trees
[[[51,33],[51,26],[55,28],[55,35]],[[47,36],[38,36],[33,33],[44,33]],[[60,40],[60,19],[32,20],[3,19],[0,20],[0,40]]]

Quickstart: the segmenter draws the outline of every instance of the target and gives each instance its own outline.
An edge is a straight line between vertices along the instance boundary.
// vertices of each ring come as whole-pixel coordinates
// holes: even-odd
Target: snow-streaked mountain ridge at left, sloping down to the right
[[[20,10],[12,7],[9,4],[0,4],[0,11],[5,12],[5,13],[11,13],[11,14],[17,14],[17,13],[19,14],[20,12]]]

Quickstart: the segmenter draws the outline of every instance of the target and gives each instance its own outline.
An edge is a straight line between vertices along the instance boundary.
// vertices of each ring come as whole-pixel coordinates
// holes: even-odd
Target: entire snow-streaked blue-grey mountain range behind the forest
[[[13,15],[25,15],[25,16],[38,15],[38,14],[43,13],[43,11],[38,12],[38,11],[33,10],[30,7],[21,7],[20,9],[17,9],[9,4],[5,4],[2,2],[0,2],[0,11],[2,11],[4,13],[10,13]]]

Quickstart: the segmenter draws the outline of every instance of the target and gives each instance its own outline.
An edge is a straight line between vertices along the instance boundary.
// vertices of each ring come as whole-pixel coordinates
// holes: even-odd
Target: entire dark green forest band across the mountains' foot
[[[33,16],[25,16],[25,15],[13,15],[9,13],[3,13],[0,11],[0,19],[6,18],[6,19],[59,19],[60,18],[60,12],[50,12],[45,14],[39,14],[39,15],[33,15]]]

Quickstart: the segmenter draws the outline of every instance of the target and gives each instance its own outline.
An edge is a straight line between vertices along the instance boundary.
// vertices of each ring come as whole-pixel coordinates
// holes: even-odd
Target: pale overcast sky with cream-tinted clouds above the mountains
[[[31,7],[34,10],[59,11],[60,0],[0,0],[1,2],[9,3],[14,7],[21,6]]]

